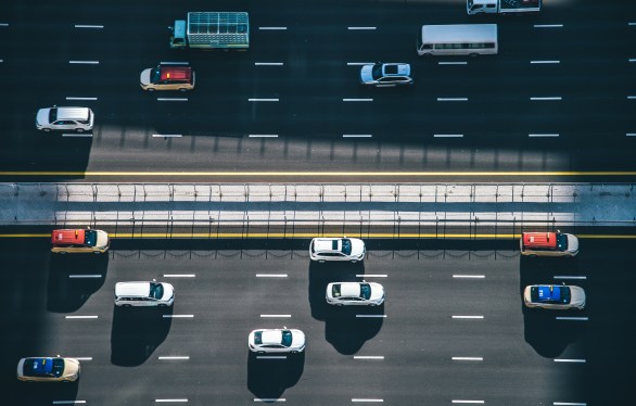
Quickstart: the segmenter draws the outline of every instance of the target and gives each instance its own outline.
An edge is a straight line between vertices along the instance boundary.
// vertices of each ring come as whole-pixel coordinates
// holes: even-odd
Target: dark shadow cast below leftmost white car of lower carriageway
[[[168,335],[173,307],[119,307],[113,309],[111,363],[122,367],[143,364]]]

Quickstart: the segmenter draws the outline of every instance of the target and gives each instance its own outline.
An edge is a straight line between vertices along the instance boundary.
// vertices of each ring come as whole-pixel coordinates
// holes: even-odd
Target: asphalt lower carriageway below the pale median
[[[631,240],[585,239],[572,261],[520,258],[511,240],[447,249],[374,240],[356,265],[310,264],[307,244],[217,241],[189,250],[117,240],[107,255],[86,258],[52,256],[46,239],[4,241],[3,330],[12,333],[2,334],[3,402],[594,405],[629,398],[636,378]],[[175,286],[173,309],[114,308],[115,282],[153,278]],[[361,279],[384,286],[382,307],[327,307],[329,281]],[[587,308],[524,310],[523,287],[546,282],[584,287]],[[306,354],[250,359],[250,330],[281,326],[305,331]],[[16,382],[20,357],[51,354],[82,359],[77,384],[34,391]]]

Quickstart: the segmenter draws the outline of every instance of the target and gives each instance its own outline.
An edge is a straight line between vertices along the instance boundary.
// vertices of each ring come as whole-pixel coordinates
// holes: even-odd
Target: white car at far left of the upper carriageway
[[[88,107],[40,109],[36,116],[36,128],[42,131],[71,130],[90,131],[94,123],[94,114]]]

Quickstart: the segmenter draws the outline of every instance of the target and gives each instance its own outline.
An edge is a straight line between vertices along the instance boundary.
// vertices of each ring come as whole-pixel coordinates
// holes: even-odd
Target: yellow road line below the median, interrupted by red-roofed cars
[[[217,238],[227,238],[227,239],[241,239],[241,238],[257,238],[257,239],[267,239],[267,238],[314,238],[317,237],[316,233],[305,233],[305,232],[296,232],[296,233],[284,233],[284,232],[219,232],[218,234],[213,232],[175,232],[175,233],[166,233],[166,232],[112,232],[110,233],[111,238],[120,238],[120,239],[186,239],[186,238],[195,238],[195,239],[217,239]],[[470,234],[470,233],[447,233],[447,234],[435,234],[435,233],[382,233],[382,232],[371,232],[371,233],[364,233],[364,234],[354,234],[347,233],[348,237],[358,237],[358,238],[386,238],[386,239],[414,239],[414,238],[429,238],[429,239],[440,239],[440,240],[451,240],[451,239],[517,239],[519,234]],[[320,237],[342,237],[342,233],[323,233]],[[576,237],[581,239],[636,239],[636,234],[576,234]],[[1,234],[0,238],[51,238],[50,233],[12,233],[12,234]]]

